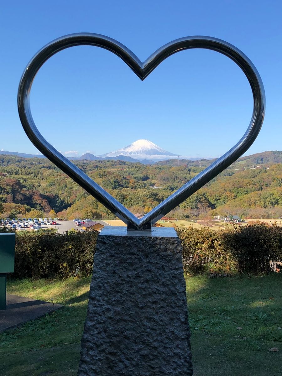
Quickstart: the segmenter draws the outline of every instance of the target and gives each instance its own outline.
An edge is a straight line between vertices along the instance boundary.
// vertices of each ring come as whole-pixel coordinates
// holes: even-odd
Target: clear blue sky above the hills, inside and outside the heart
[[[17,112],[18,83],[30,58],[59,36],[93,32],[117,39],[142,61],[183,36],[232,43],[255,64],[267,100],[261,133],[246,154],[282,150],[280,0],[17,0],[2,4],[1,13],[0,149],[37,153]],[[240,68],[212,51],[177,53],[141,82],[117,56],[80,46],[43,65],[31,109],[39,131],[65,155],[99,155],[145,138],[173,153],[209,158],[241,138],[252,94]]]

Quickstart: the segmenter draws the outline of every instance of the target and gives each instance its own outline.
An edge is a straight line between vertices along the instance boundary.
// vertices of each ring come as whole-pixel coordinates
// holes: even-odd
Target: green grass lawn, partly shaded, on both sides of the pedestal
[[[282,274],[185,279],[196,376],[282,375]],[[1,375],[77,374],[89,284],[90,278],[8,282],[9,293],[64,308],[0,334]]]

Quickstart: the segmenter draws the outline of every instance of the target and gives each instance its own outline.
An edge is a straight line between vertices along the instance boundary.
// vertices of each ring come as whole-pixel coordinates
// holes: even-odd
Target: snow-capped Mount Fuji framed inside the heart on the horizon
[[[140,139],[126,147],[123,147],[122,149],[100,155],[99,157],[111,158],[121,155],[139,160],[150,159],[151,161],[155,162],[164,161],[165,159],[171,159],[179,156],[178,154],[167,152],[167,150],[162,149],[149,140]]]

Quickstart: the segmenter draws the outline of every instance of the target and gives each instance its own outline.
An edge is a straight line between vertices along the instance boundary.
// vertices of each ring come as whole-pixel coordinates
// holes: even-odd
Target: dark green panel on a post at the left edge
[[[0,273],[13,273],[15,265],[15,234],[0,233]]]

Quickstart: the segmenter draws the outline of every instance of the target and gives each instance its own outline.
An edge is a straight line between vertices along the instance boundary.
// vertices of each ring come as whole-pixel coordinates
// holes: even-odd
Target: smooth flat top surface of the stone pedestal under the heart
[[[99,236],[139,236],[139,237],[161,237],[177,238],[173,227],[153,227],[152,230],[135,231],[127,230],[125,226],[105,226]]]

